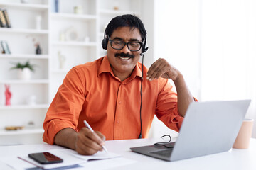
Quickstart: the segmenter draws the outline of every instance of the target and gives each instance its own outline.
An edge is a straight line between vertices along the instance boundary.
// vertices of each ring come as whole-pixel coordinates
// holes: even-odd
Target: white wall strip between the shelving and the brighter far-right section
[[[154,1],[154,61],[165,58],[179,69],[193,96],[200,98],[200,1]],[[171,82],[172,83],[172,82]],[[176,132],[157,118],[150,137]]]

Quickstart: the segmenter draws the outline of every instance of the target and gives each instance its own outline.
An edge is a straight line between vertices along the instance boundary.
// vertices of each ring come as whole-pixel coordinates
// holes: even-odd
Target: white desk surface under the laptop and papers
[[[184,159],[177,162],[166,162],[161,159],[154,159],[151,157],[137,154],[130,151],[130,147],[137,147],[142,145],[152,145],[154,142],[159,142],[159,139],[142,139],[142,140],[115,140],[107,141],[106,147],[109,152],[121,154],[122,157],[135,160],[133,164],[126,166],[104,166],[102,169],[196,169],[196,170],[220,170],[220,169],[232,169],[232,170],[255,170],[256,169],[256,139],[251,139],[249,149],[231,149],[228,152],[219,154],[211,154],[205,157],[197,157],[193,159]],[[1,157],[16,157],[21,154],[28,154],[31,152],[43,152],[50,151],[50,149],[61,148],[51,145],[18,145],[18,146],[1,146],[0,147],[0,160]],[[115,159],[113,159],[114,161]],[[104,164],[104,161],[95,161],[88,164],[95,164],[94,168],[99,169],[97,165]],[[114,164],[114,163],[112,163]],[[83,164],[85,165],[85,164]],[[110,168],[111,167],[111,168]],[[11,169],[9,166],[0,162],[1,170]],[[87,169],[75,168],[77,170]]]

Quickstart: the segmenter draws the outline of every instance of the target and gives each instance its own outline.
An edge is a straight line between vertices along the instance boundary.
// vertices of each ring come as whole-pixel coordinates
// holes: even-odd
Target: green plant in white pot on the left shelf
[[[16,62],[15,66],[11,69],[18,69],[18,79],[31,79],[31,72],[34,71],[35,64],[31,64],[29,61],[25,63]]]

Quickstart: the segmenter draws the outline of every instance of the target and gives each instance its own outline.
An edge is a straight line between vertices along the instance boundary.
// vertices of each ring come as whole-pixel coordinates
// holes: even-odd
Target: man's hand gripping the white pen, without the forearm
[[[82,128],[76,137],[75,150],[78,154],[91,155],[102,151],[105,145],[105,136],[101,132],[92,132],[88,128]]]

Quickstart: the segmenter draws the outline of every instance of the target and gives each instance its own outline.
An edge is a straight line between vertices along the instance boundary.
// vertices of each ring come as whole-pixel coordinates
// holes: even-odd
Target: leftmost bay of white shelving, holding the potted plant
[[[42,142],[43,118],[49,106],[49,29],[48,1],[34,0],[22,4],[18,0],[0,1],[6,8],[11,28],[0,28],[0,40],[8,42],[11,54],[0,55],[0,145]],[[41,16],[41,29],[36,29],[36,16]],[[36,55],[33,38],[40,43],[42,55]],[[17,79],[17,71],[10,70],[12,62],[36,64],[29,80]],[[11,86],[11,106],[5,106],[4,84]],[[36,103],[28,104],[28,99]],[[23,126],[23,130],[6,131],[6,126]]]

